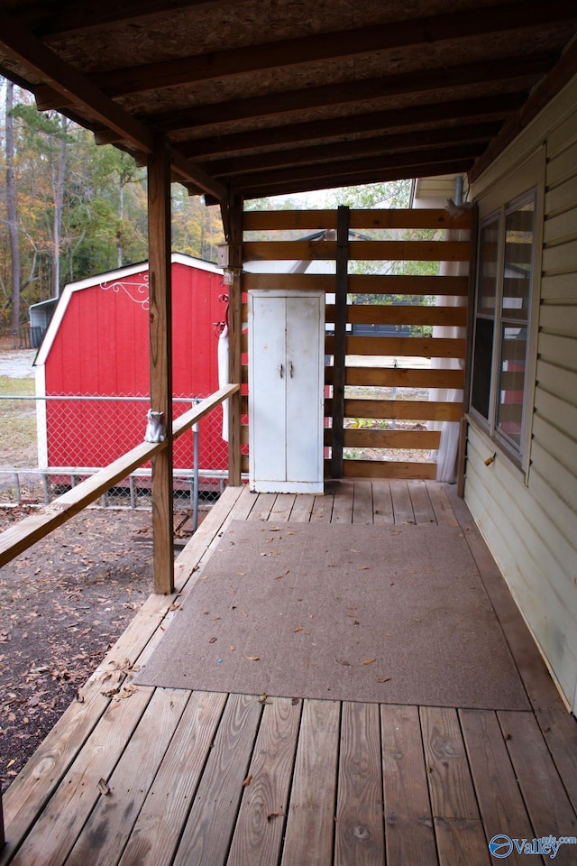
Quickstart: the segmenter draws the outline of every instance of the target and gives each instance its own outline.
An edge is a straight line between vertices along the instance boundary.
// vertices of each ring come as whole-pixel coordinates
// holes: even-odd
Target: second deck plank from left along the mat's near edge
[[[120,859],[189,694],[176,688],[155,690],[122,758],[105,780],[110,793],[100,795],[68,863],[107,866]]]

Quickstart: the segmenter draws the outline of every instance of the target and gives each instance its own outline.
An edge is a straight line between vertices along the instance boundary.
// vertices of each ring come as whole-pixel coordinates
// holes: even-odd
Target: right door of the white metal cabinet
[[[287,478],[323,478],[321,301],[287,298]]]

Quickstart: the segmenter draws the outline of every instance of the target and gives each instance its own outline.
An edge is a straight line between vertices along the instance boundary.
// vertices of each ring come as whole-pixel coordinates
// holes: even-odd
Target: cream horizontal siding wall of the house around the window
[[[472,187],[480,202],[537,184],[541,274],[528,461],[471,420],[465,500],[573,712],[577,688],[577,77]],[[496,453],[489,466],[484,461]]]

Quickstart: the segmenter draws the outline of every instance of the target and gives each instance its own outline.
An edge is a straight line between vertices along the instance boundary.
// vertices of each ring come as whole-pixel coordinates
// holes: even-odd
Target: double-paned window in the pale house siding
[[[520,459],[527,423],[527,335],[536,193],[481,223],[473,332],[472,414]]]

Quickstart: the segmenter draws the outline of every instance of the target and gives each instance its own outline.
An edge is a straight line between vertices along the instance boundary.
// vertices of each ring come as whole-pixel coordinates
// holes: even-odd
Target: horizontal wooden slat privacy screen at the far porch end
[[[313,235],[325,229],[331,234],[327,240],[318,236],[308,240],[302,237],[300,240],[285,240],[282,234],[271,234],[270,239],[262,240],[261,237],[266,235],[259,235],[258,240],[243,243],[243,262],[333,262],[332,266],[328,264],[325,268],[329,271],[334,268],[336,255],[336,217],[333,210],[248,212],[244,215],[244,232],[302,230],[302,235]],[[348,393],[345,391],[343,473],[345,477],[434,479],[436,465],[429,452],[438,449],[441,433],[428,429],[427,422],[458,422],[463,415],[463,403],[426,400],[427,389],[443,389],[457,394],[463,389],[464,330],[469,293],[467,276],[441,274],[440,265],[435,263],[469,263],[469,242],[455,241],[454,235],[446,240],[444,233],[470,230],[472,212],[467,210],[458,217],[452,217],[444,209],[352,210],[349,217],[351,230],[367,233],[362,239],[350,238],[349,261],[389,262],[392,264],[385,264],[382,269],[396,272],[355,272],[348,275],[347,331],[351,333],[346,336],[344,370]],[[421,229],[428,234],[416,235]],[[406,234],[387,235],[389,231]],[[370,239],[372,232],[374,240]],[[383,232],[385,238],[395,239],[383,239]],[[411,239],[397,239],[408,236]],[[423,240],[423,237],[427,239]],[[398,272],[398,262],[434,264],[423,267],[422,270],[428,272],[421,274]],[[310,267],[314,270],[319,266],[312,264]],[[362,265],[352,264],[350,270],[362,270]],[[368,265],[367,270],[374,271],[375,265]],[[421,268],[412,265],[407,270]],[[320,289],[327,295],[324,441],[328,449],[333,444],[330,388],[334,382],[334,336],[331,333],[335,315],[334,298],[331,297],[335,291],[334,273],[243,272],[243,291],[263,289]],[[439,297],[444,302],[436,306],[435,299]],[[352,302],[357,299],[358,302]],[[419,299],[424,303],[419,303]],[[244,303],[244,323],[247,315]],[[423,328],[427,328],[425,334]],[[432,328],[435,330],[431,331]],[[442,328],[447,328],[447,331]],[[455,332],[454,328],[463,330]],[[246,327],[243,330],[242,348],[246,353]],[[453,368],[445,369],[451,366]],[[243,364],[242,411],[245,420],[248,413],[247,371],[247,364]],[[243,450],[248,444],[248,430],[247,424],[243,423]],[[403,456],[407,459],[403,460]],[[331,466],[328,457],[329,454],[325,453],[326,477],[330,475]],[[247,469],[248,458],[244,454],[243,471]]]

